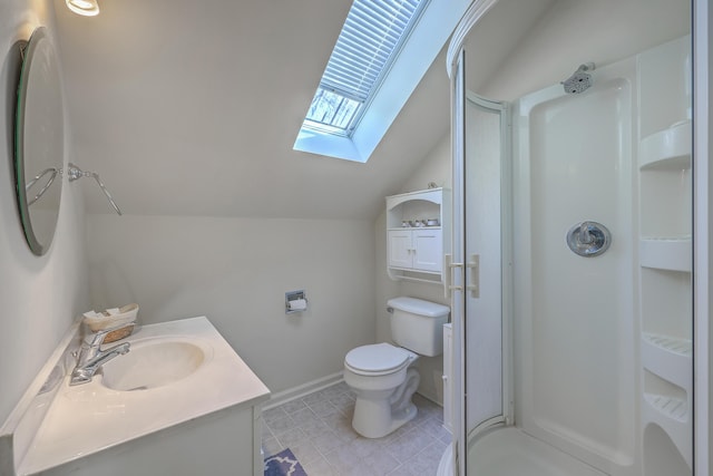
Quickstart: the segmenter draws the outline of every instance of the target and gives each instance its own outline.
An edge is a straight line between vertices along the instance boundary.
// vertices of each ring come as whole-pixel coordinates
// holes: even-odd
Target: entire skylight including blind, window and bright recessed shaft
[[[293,148],[369,161],[471,1],[354,0]]]

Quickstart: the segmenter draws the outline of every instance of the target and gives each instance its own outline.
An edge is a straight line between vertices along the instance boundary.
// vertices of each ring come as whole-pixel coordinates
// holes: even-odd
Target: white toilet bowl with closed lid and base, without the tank
[[[421,380],[411,366],[418,354],[375,343],[352,349],[344,358],[344,381],[356,394],[352,427],[367,438],[389,435],[416,417],[411,397]]]

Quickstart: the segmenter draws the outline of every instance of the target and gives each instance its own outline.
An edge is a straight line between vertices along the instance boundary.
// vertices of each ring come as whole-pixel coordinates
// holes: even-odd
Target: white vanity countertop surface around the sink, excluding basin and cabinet
[[[65,377],[18,474],[36,474],[214,411],[268,399],[267,387],[205,317],[144,326],[126,341],[155,338],[191,339],[211,352],[191,376],[145,391],[109,389],[100,375],[70,387]]]

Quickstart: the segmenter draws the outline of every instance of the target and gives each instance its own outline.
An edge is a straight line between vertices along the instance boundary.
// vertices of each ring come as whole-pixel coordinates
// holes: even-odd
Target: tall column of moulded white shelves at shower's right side
[[[680,38],[637,57],[639,422],[652,476],[691,476],[693,463],[690,55]]]

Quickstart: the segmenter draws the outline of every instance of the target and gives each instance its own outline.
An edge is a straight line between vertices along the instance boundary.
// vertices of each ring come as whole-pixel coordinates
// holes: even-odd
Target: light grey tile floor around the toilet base
[[[263,412],[265,456],[290,448],[307,476],[434,476],[450,443],[443,409],[413,396],[416,418],[369,439],[351,426],[354,394],[341,382]]]

